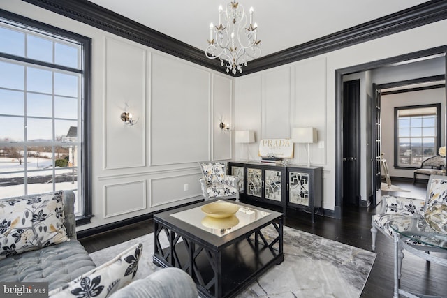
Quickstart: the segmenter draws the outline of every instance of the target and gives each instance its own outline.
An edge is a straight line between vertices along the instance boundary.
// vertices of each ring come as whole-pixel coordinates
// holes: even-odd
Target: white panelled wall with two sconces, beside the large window
[[[92,38],[94,218],[78,230],[202,198],[197,161],[233,157],[234,132],[218,127],[233,124],[232,77],[23,1],[1,8]]]

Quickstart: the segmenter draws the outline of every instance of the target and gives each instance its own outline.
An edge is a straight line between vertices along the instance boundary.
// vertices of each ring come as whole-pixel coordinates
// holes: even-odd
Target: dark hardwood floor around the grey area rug
[[[400,186],[409,192],[390,194],[425,198],[426,184],[413,185],[411,181],[393,181],[393,185]],[[342,219],[317,216],[316,222],[312,223],[309,214],[289,210],[285,225],[370,251],[371,216],[375,213],[374,207],[345,206]],[[150,232],[153,232],[153,222],[147,220],[80,239],[80,242],[91,253]],[[393,297],[393,241],[381,232],[377,233],[376,254],[374,266],[361,298]],[[439,256],[439,254],[435,255]],[[446,267],[425,262],[410,253],[405,253],[402,264],[402,288],[427,295],[445,296],[447,295],[446,276]]]

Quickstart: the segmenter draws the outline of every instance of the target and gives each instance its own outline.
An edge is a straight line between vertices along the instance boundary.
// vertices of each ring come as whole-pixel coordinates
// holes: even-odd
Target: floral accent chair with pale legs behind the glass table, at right
[[[431,175],[427,184],[427,193],[425,200],[396,197],[393,195],[384,195],[382,198],[382,209],[372,216],[371,234],[372,251],[376,249],[377,231],[382,232],[390,239],[393,239],[393,229],[390,228],[390,222],[398,225],[408,225],[417,218],[425,218],[425,221],[433,230],[447,233],[447,177],[440,175]],[[420,243],[409,243],[423,251],[432,251],[432,249]],[[404,254],[402,249],[399,253],[398,270],[402,264]],[[399,274],[400,275],[400,274]]]

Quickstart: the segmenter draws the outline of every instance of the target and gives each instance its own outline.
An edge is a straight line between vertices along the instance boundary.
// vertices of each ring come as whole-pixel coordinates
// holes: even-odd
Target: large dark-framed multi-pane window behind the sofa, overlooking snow
[[[91,40],[0,11],[0,198],[76,194],[91,217]]]

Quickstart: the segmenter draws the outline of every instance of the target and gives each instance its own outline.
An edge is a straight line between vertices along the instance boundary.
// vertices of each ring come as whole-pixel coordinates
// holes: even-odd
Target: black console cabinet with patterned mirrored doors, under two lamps
[[[264,165],[255,162],[228,162],[228,173],[240,177],[240,199],[302,209],[311,214],[321,208],[323,167]]]

